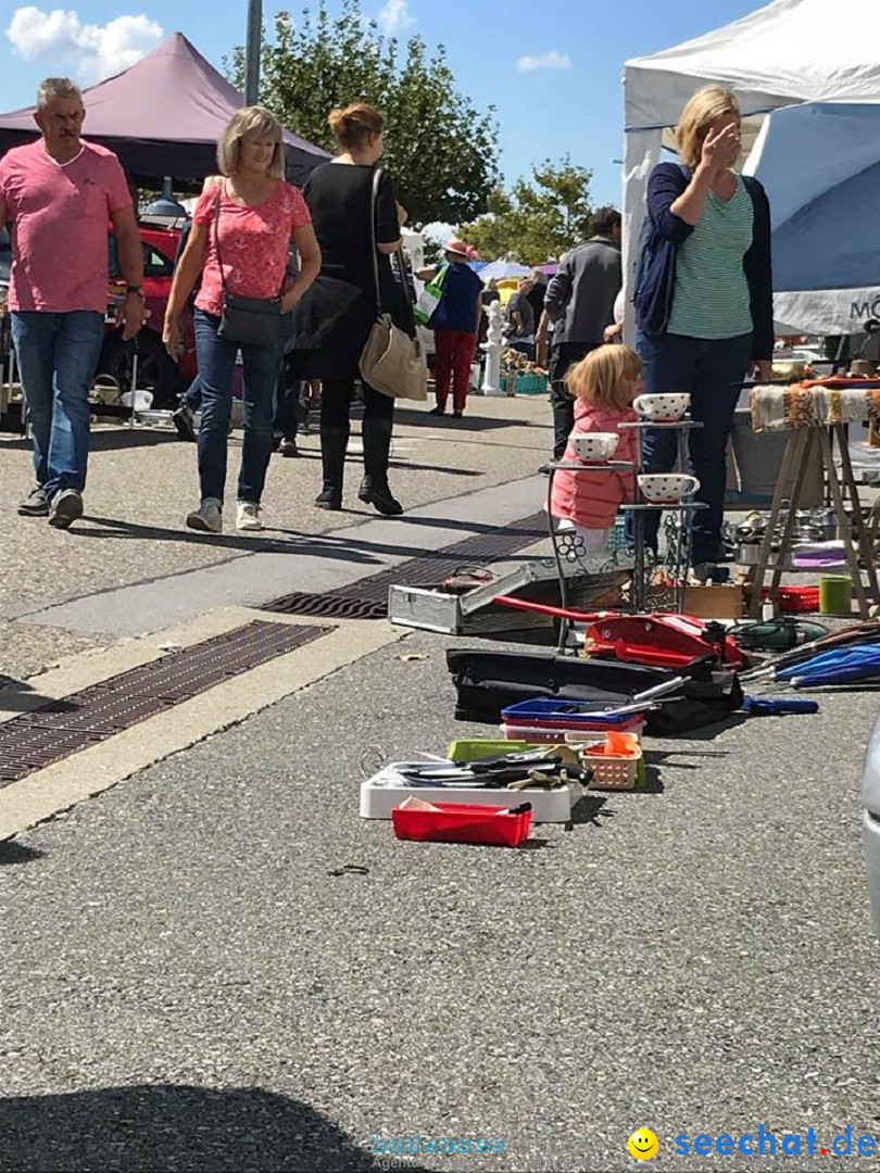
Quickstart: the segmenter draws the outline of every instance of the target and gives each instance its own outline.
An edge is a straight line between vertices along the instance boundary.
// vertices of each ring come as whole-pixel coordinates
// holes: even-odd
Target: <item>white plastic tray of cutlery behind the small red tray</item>
[[[408,786],[398,771],[401,767],[424,767],[425,761],[392,762],[378,774],[360,784],[360,818],[391,819],[392,808],[404,799],[419,798],[426,802],[474,802],[480,806],[514,807],[521,802],[532,804],[533,822],[568,822],[571,808],[584,794],[580,782],[569,782],[556,791],[542,791],[537,787],[524,791],[489,789],[488,787],[452,786]],[[436,762],[432,762],[436,765]]]

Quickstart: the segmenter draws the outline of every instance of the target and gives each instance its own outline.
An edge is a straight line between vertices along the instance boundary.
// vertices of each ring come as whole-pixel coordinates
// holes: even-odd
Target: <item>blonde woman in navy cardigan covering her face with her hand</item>
[[[746,374],[770,378],[773,294],[770,205],[760,183],[733,170],[740,152],[739,107],[729,89],[710,86],[688,102],[676,128],[682,163],[658,164],[648,181],[635,308],[645,393],[685,392],[690,457],[700,488],[693,513],[692,561],[722,556],[726,447]],[[648,473],[675,466],[676,433],[643,436]],[[659,513],[647,515],[657,548]]]

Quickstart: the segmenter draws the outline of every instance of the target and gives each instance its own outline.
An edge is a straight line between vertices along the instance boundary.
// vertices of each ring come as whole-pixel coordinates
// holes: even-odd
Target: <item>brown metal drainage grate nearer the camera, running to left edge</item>
[[[0,725],[0,786],[104,741],[333,629],[248,623]]]

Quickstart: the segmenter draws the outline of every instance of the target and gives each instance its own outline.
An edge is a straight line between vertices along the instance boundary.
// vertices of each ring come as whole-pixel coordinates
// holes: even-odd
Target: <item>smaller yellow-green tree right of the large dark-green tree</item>
[[[532,169],[532,181],[517,179],[509,192],[496,188],[488,211],[459,235],[487,259],[505,257],[522,265],[559,259],[589,236],[593,172],[567,155]]]

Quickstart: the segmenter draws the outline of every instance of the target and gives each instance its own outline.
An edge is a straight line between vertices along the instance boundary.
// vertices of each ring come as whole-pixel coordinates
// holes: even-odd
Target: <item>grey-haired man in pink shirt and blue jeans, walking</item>
[[[113,151],[82,142],[86,110],[67,77],[40,84],[42,137],[0,160],[0,224],[13,225],[9,308],[34,438],[36,487],[19,506],[67,529],[82,516],[89,450],[88,393],[107,312],[107,222],[128,291],[122,337],[143,310],[143,250],[131,196]]]

